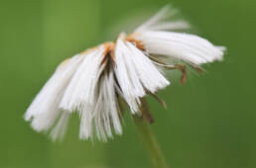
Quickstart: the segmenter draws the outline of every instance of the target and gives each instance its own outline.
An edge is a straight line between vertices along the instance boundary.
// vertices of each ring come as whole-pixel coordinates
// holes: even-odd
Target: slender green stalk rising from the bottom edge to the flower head
[[[142,114],[150,114],[149,108],[147,106],[146,100],[142,100],[141,111]],[[157,139],[151,129],[149,123],[145,122],[143,119],[139,118],[136,115],[133,115],[133,121],[139,136],[148,151],[151,163],[155,168],[169,168],[165,160],[164,154],[162,153],[160,146],[157,142]]]

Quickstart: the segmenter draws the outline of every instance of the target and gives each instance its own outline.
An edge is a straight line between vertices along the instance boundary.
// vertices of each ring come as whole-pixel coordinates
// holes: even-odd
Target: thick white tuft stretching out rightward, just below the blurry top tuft
[[[190,34],[146,31],[135,38],[142,41],[151,54],[167,55],[196,65],[221,60],[223,56],[223,46],[214,46]]]

